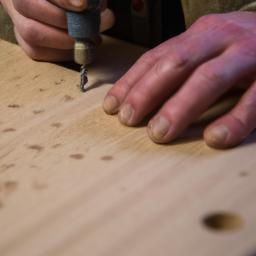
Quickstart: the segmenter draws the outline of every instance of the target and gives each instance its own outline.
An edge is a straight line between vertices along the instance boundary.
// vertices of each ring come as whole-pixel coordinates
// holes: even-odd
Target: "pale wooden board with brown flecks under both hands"
[[[215,150],[200,126],[168,145],[122,126],[101,103],[145,49],[104,39],[86,93],[0,41],[0,255],[252,255],[256,133]],[[243,224],[211,230],[219,212]]]

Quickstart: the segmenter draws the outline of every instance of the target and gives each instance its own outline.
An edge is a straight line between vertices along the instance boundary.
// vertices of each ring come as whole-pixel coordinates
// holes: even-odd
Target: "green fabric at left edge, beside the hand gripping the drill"
[[[0,4],[0,38],[18,44],[13,31],[13,23],[2,4]]]

